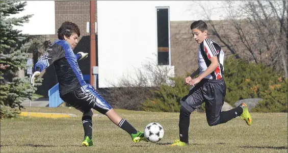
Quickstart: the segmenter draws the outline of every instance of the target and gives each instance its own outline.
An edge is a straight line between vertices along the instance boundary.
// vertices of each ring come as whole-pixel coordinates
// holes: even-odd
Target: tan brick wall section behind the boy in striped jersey
[[[193,38],[191,34],[190,25],[193,21],[171,21],[170,22],[170,43],[171,43],[171,64],[174,65],[175,75],[177,77],[187,77],[186,72],[192,73],[198,68],[198,47],[199,45]],[[216,25],[216,29],[220,29],[219,26],[224,26],[223,29],[230,28],[231,26],[226,21],[213,21]],[[223,49],[225,53],[225,59],[231,55],[228,48],[219,40],[219,38],[213,34],[211,25],[208,25],[208,37],[217,42]],[[227,33],[225,31],[219,30],[219,34],[224,39],[225,35],[229,35],[230,40],[233,40],[235,44],[235,49],[238,50],[238,54],[241,57],[251,56],[247,54],[247,49],[238,40],[238,36],[235,33]],[[253,30],[249,29],[253,32]],[[225,65],[224,65],[225,68]],[[225,73],[225,72],[224,72]]]

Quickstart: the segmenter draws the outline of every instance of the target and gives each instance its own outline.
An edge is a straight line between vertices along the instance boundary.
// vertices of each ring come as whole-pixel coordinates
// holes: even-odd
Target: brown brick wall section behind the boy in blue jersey
[[[95,1],[97,8],[97,1]],[[74,53],[90,53],[90,34],[86,33],[86,22],[90,21],[90,1],[55,1],[55,35],[45,35],[46,40],[54,42],[58,39],[57,30],[64,21],[71,21],[78,25],[81,36],[73,49]],[[97,9],[95,15],[97,22]],[[97,33],[96,33],[97,49]],[[90,56],[78,62],[83,74],[90,73]],[[38,93],[48,97],[48,90],[58,83],[54,67],[50,66],[43,72],[43,85],[38,87]]]

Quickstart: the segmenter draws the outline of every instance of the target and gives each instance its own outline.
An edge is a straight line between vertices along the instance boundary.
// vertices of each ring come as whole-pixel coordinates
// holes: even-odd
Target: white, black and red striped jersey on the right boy
[[[210,74],[207,75],[207,79],[219,80],[223,75],[223,62],[224,62],[224,52],[219,44],[210,38],[204,39],[204,41],[199,45],[198,50],[198,63],[200,74],[203,73],[207,67],[211,64],[210,59],[217,56],[219,66]]]

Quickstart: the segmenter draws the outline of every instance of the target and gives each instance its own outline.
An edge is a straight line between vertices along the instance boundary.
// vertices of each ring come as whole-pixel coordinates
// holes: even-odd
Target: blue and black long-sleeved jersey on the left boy
[[[34,71],[41,72],[53,64],[59,82],[61,97],[86,85],[77,63],[79,59],[81,59],[81,55],[74,54],[72,48],[65,40],[56,40],[35,64]]]

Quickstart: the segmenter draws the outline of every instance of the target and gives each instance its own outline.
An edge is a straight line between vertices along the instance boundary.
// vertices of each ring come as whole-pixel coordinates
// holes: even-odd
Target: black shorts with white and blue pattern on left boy
[[[70,106],[85,113],[92,108],[101,114],[106,114],[112,107],[104,100],[91,85],[87,84],[70,91],[61,98]]]

